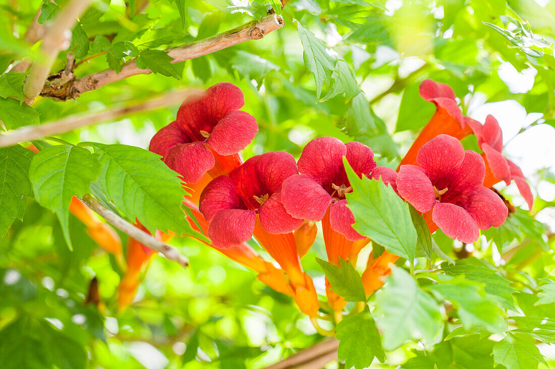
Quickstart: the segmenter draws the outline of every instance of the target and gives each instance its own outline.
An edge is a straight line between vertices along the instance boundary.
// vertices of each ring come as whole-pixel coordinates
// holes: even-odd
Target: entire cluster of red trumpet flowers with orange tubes
[[[352,228],[355,217],[345,198],[352,188],[344,158],[359,177],[383,181],[412,204],[430,232],[441,228],[465,243],[474,242],[480,229],[497,227],[507,218],[507,206],[490,188],[493,184],[514,180],[532,206],[522,171],[501,153],[497,121],[488,117],[482,125],[463,116],[447,85],[426,80],[420,94],[436,105],[436,112],[397,171],[377,166],[370,147],[333,137],[307,143],[298,161],[283,151],[243,161],[239,151],[253,140],[258,126],[253,116],[239,110],[243,94],[230,83],[186,100],[176,121],[154,135],[150,150],[195,192],[184,203],[208,235],[207,244],[255,270],[260,280],[292,296],[301,311],[315,317],[322,305],[300,261],[314,243],[315,222],[321,222],[327,258],[337,266],[340,259],[355,264],[370,242]],[[481,154],[465,151],[460,142],[472,133]],[[252,237],[279,268],[246,243]],[[380,288],[380,277],[390,273],[388,265],[397,258],[384,252],[369,260],[362,274],[368,295]],[[327,280],[326,295],[327,306],[340,314],[346,303]]]

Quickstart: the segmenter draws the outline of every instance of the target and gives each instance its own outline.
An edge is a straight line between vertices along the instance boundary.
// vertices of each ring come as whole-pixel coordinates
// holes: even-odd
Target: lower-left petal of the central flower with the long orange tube
[[[208,237],[219,249],[229,249],[253,237],[256,212],[242,209],[220,211],[208,226]]]

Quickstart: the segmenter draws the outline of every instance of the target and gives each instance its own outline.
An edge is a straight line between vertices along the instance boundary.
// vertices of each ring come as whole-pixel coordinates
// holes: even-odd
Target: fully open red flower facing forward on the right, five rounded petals
[[[479,229],[498,227],[507,218],[501,197],[483,186],[482,157],[465,151],[455,137],[439,135],[427,142],[416,163],[401,166],[397,191],[418,212],[430,212],[432,222],[449,237],[472,243]]]

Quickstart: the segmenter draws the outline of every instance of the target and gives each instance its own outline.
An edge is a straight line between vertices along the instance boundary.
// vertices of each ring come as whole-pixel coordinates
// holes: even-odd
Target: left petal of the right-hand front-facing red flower
[[[417,211],[426,213],[436,203],[432,182],[422,168],[415,165],[401,165],[396,183],[398,193]]]

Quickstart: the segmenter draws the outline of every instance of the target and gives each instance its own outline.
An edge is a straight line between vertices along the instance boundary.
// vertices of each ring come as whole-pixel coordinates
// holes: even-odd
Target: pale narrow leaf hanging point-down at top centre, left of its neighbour
[[[302,27],[297,22],[297,30],[304,48],[304,59],[306,70],[314,74],[316,82],[316,99],[320,100],[322,86],[330,83],[331,74],[334,71],[335,59],[326,52],[326,44],[317,38],[310,30]]]

